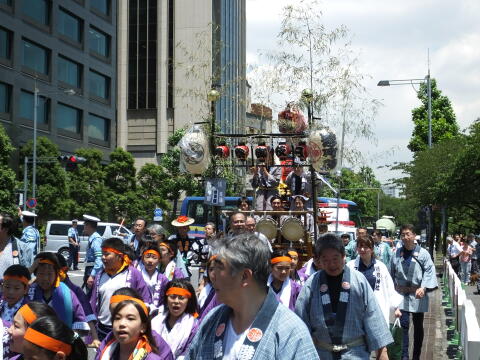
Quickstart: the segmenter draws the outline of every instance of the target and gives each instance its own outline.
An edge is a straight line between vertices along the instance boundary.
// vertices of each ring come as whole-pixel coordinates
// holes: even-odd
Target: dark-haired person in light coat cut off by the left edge
[[[23,256],[21,256],[19,241],[13,234],[15,233],[15,220],[9,214],[0,214],[0,280],[3,278],[5,270],[14,264],[20,264],[26,267]]]

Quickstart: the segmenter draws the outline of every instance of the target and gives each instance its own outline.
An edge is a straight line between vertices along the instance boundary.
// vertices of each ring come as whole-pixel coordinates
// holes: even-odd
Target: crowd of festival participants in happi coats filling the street
[[[272,244],[242,211],[225,233],[206,224],[202,239],[189,235],[195,220],[187,216],[172,221],[171,236],[139,218],[126,240],[103,239],[100,219],[83,220],[79,287],[68,276],[78,264],[34,250],[24,258],[21,249],[33,241],[15,239],[13,217],[0,214],[0,257],[8,254],[0,261],[4,359],[87,359],[87,346],[99,360],[388,359],[394,317],[404,333],[402,358],[420,358],[428,293],[437,284],[412,225],[401,227],[393,249],[365,228],[355,239],[323,233],[299,266],[301,249]],[[75,245],[78,234],[68,237]],[[194,269],[201,269],[198,283]]]

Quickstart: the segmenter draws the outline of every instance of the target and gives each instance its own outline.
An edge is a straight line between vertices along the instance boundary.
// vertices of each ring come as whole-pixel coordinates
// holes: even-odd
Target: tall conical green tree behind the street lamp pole
[[[432,92],[432,144],[458,136],[459,128],[450,99],[442,95],[435,79],[431,81]],[[412,110],[414,129],[408,149],[413,153],[428,148],[428,89],[421,84],[417,93],[422,105]]]

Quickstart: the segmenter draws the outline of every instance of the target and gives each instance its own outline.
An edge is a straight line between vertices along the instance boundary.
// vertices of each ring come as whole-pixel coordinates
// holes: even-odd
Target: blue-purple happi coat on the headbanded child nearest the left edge
[[[38,284],[32,284],[28,290],[30,301],[45,303],[43,290]],[[57,313],[58,317],[72,330],[90,331],[85,318],[85,312],[77,295],[63,282],[53,290],[52,297],[47,303]]]

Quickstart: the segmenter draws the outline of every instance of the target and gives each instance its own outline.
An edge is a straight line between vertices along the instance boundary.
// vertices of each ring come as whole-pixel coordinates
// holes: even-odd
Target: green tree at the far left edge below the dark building
[[[15,150],[5,128],[0,124],[0,212],[15,210],[15,172],[10,168],[10,156]]]

